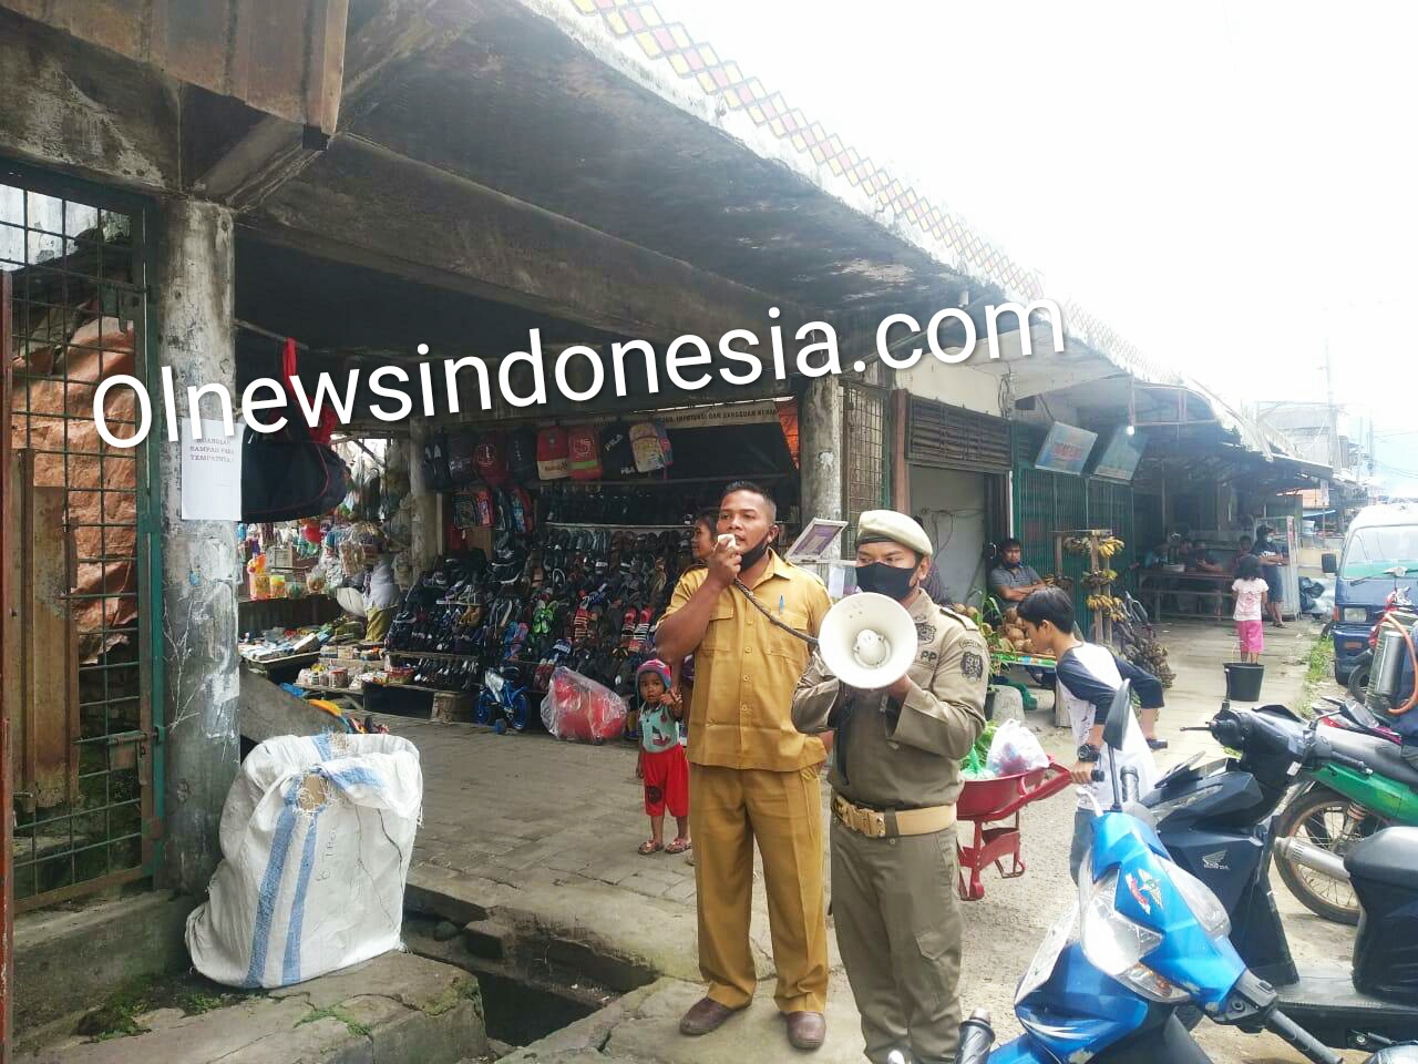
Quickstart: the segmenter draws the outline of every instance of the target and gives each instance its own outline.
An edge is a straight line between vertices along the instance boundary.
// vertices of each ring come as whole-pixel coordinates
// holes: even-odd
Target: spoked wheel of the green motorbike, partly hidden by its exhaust
[[[1383,817],[1329,787],[1313,787],[1300,792],[1280,810],[1275,834],[1278,838],[1295,838],[1343,857],[1354,843],[1368,838],[1384,826]],[[1279,853],[1275,855],[1275,867],[1290,894],[1310,912],[1336,924],[1358,924],[1358,898],[1347,882],[1288,861]]]

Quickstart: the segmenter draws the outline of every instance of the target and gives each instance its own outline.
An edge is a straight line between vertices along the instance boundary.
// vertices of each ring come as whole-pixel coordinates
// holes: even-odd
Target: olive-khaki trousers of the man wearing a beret
[[[698,844],[698,840],[696,840]],[[956,830],[866,838],[832,821],[832,922],[866,1058],[951,1064],[960,1038]]]

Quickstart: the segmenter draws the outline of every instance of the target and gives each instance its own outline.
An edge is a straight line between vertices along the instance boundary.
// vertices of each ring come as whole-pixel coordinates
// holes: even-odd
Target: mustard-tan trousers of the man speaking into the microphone
[[[793,772],[689,766],[689,827],[699,898],[699,970],[729,1009],[753,1000],[749,945],[753,840],[763,857],[778,1010],[827,1007],[822,792],[818,767]]]

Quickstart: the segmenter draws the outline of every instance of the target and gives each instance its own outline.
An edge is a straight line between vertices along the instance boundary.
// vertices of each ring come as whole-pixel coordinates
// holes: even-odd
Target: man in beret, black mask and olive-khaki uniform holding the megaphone
[[[893,1048],[953,1061],[960,1030],[954,802],[984,728],[990,655],[968,619],[920,590],[930,555],[905,514],[862,514],[856,586],[906,607],[916,660],[891,687],[854,691],[814,655],[793,698],[798,729],[837,731],[832,918],[875,1064]]]

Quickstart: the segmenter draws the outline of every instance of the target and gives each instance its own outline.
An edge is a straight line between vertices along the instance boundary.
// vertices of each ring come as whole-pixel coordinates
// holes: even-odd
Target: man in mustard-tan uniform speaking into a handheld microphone
[[[666,661],[695,655],[689,824],[699,968],[709,993],[679,1029],[708,1034],[753,1000],[749,916],[757,840],[778,969],[774,1000],[787,1019],[788,1041],[815,1050],[827,1037],[820,783],[827,750],[817,736],[793,726],[793,691],[810,650],[778,624],[815,636],[830,600],[817,576],[769,549],[777,535],[776,509],[761,488],[729,485],[718,535],[727,539],[716,543],[705,569],[679,577],[655,631],[657,651]],[[736,579],[769,616],[735,586]]]

